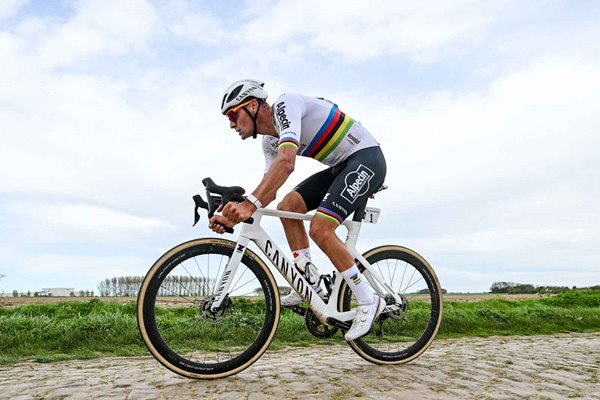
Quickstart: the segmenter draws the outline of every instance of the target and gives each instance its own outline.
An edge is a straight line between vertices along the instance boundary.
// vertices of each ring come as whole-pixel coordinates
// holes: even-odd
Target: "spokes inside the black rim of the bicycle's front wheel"
[[[185,364],[210,368],[237,360],[245,352],[255,351],[251,349],[258,340],[264,343],[272,338],[272,335],[262,334],[269,308],[260,302],[266,303],[266,293],[272,292],[264,291],[261,283],[264,277],[261,281],[257,275],[257,271],[263,270],[258,266],[252,269],[242,261],[229,278],[230,290],[223,296],[220,307],[211,309],[210,297],[218,289],[232,250],[221,248],[213,252],[213,246],[209,249],[187,257],[179,256],[174,264],[166,264],[169,269],[159,275],[160,280],[152,289],[154,335],[160,336],[170,354],[182,359],[184,364],[180,368],[184,369]],[[262,290],[257,291],[257,287]],[[158,296],[166,299],[159,300]]]

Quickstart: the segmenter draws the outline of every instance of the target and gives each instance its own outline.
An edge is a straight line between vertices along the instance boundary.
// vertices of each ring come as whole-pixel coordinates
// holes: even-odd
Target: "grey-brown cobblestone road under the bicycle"
[[[600,333],[438,340],[393,367],[347,346],[267,351],[216,381],[179,377],[150,357],[28,362],[0,367],[0,398],[600,400]]]

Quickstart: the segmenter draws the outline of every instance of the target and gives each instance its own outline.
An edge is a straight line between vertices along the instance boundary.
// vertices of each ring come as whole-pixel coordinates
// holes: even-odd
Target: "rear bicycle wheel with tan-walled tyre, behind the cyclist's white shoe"
[[[386,284],[400,296],[384,296],[387,307],[373,323],[371,332],[348,342],[365,360],[376,364],[403,364],[421,355],[430,345],[442,322],[442,289],[433,268],[414,251],[400,246],[381,246],[369,250],[364,258]],[[364,266],[359,269],[368,275]],[[367,282],[372,279],[367,277]],[[375,290],[373,290],[375,292]],[[352,290],[344,281],[338,307],[353,306]]]

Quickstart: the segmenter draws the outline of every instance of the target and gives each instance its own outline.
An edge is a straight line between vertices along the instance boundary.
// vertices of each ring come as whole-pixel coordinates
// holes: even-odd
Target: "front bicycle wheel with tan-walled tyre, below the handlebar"
[[[137,302],[138,327],[152,355],[171,371],[223,378],[254,363],[279,324],[279,293],[265,263],[246,249],[221,307],[215,287],[235,250],[229,240],[196,239],[154,263]]]

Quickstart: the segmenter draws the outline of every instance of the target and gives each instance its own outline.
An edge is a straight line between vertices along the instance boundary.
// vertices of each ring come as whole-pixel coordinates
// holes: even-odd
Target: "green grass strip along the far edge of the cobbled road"
[[[165,311],[164,323],[172,323],[185,312]],[[565,292],[519,300],[445,300],[437,338],[596,331],[600,331],[600,291]],[[332,339],[316,339],[304,328],[303,318],[284,310],[271,348],[326,343],[344,340],[341,333]],[[148,355],[133,301],[0,306],[2,364],[133,355]]]

